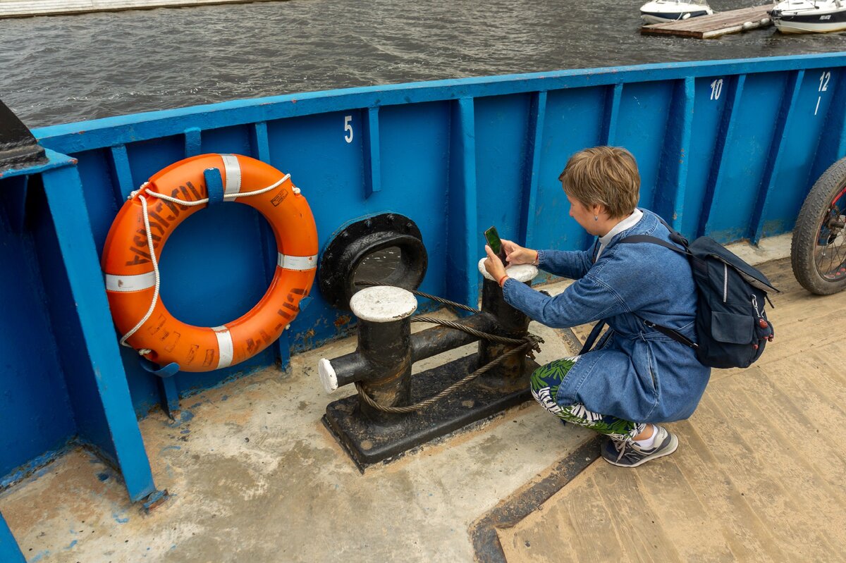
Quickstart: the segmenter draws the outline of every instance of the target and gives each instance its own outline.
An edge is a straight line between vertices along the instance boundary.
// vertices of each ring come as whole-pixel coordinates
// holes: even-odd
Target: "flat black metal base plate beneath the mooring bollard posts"
[[[416,374],[411,380],[411,402],[452,385],[476,369],[476,362],[474,354]],[[326,407],[323,424],[364,472],[369,465],[391,461],[418,445],[529,400],[529,374],[537,367],[537,363],[527,361],[519,385],[508,390],[486,385],[482,374],[422,411],[389,415],[386,421],[371,420],[361,413],[358,395],[348,396]]]

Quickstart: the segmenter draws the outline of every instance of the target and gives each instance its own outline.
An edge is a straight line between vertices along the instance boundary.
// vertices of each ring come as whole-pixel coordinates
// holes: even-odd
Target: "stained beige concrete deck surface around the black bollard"
[[[758,260],[785,255],[789,237],[765,243],[749,251]],[[792,276],[777,283],[795,284]],[[794,324],[824,321],[808,320],[803,314]],[[812,335],[776,322],[777,341],[765,358],[783,361],[792,350],[788,335],[800,342]],[[539,362],[573,353],[572,335],[535,323],[530,330],[547,341]],[[4,490],[0,511],[27,560],[470,561],[470,525],[592,438],[527,403],[361,474],[321,424],[337,396],[322,391],[316,372],[319,358],[354,347],[353,338],[334,342],[295,356],[288,374],[268,369],[184,399],[176,423],[160,412],[144,419],[157,485],[173,494],[150,515],[131,505],[120,478],[85,451]],[[473,351],[430,358],[415,372]],[[681,449],[673,459],[691,455]]]

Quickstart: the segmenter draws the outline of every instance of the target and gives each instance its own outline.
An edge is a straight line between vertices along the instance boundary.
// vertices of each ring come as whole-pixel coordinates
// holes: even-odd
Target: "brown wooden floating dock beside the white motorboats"
[[[772,19],[767,10],[772,4],[729,10],[698,18],[682,19],[666,24],[644,25],[640,33],[645,36],[680,36],[695,37],[696,39],[711,39],[724,36],[727,33],[754,30],[759,27],[772,25]]]

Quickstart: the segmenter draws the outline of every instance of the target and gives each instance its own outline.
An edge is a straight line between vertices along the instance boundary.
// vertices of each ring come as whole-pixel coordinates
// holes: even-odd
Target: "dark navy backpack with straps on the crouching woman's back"
[[[662,221],[664,222],[664,221]],[[711,368],[748,368],[761,357],[766,342],[772,342],[772,324],[766,319],[765,301],[770,303],[768,291],[778,292],[760,271],[746,264],[738,256],[723,248],[713,238],[700,237],[688,243],[687,239],[670,231],[667,243],[648,235],[632,235],[621,238],[618,243],[659,244],[679,254],[685,254],[690,262],[696,284],[696,336],[698,342],[673,331],[666,326],[656,325],[648,320],[643,323],[695,349],[700,363]],[[602,330],[604,323],[597,323]],[[585,353],[596,339],[593,331],[582,353]]]

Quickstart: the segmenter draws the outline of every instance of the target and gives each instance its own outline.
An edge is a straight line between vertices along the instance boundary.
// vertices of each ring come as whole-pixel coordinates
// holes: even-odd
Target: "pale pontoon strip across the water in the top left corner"
[[[0,19],[282,0],[0,0]]]

